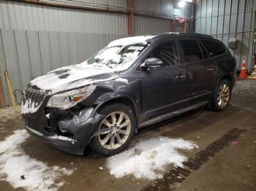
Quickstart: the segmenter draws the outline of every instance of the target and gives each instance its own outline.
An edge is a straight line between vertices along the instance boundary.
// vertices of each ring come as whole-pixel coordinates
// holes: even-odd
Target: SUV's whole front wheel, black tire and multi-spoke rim
[[[135,115],[129,106],[124,104],[102,106],[99,114],[104,117],[97,124],[96,136],[91,139],[90,147],[99,155],[116,155],[126,149],[132,141],[136,128]],[[123,125],[125,126],[122,127]]]

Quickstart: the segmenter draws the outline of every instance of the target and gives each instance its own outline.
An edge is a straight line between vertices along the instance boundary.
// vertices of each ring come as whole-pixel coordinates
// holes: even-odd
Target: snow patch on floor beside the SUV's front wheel
[[[187,157],[177,149],[197,147],[192,141],[157,137],[138,142],[134,148],[108,158],[107,167],[116,178],[134,175],[137,179],[161,178],[168,164],[182,166]]]

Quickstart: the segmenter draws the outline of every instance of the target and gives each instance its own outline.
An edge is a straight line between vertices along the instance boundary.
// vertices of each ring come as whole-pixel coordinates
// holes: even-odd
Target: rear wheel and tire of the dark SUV
[[[231,98],[231,83],[227,79],[222,79],[216,89],[214,95],[211,98],[211,109],[215,112],[223,111],[227,109]]]

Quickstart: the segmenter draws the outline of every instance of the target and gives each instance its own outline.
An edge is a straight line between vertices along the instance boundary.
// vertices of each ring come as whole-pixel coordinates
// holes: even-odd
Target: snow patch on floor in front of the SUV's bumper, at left
[[[26,130],[15,130],[12,136],[0,142],[0,180],[25,190],[49,190],[48,187],[57,190],[63,184],[55,183],[59,176],[70,175],[73,171],[58,166],[49,167],[26,155],[20,144],[28,138]]]

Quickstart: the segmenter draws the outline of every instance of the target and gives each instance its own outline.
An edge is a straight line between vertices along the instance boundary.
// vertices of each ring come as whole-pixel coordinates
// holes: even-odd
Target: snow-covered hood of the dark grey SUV
[[[104,82],[116,78],[118,78],[118,71],[106,68],[94,68],[80,63],[50,71],[45,75],[31,80],[29,86],[55,94],[95,82]]]

